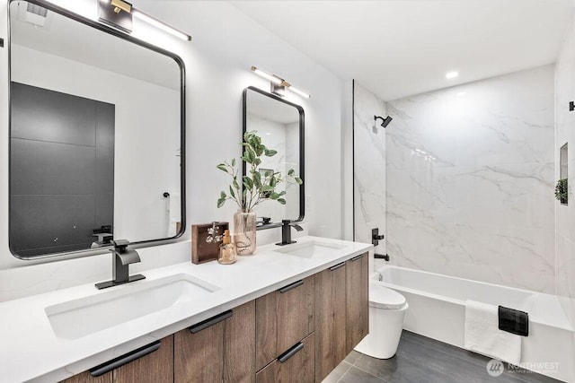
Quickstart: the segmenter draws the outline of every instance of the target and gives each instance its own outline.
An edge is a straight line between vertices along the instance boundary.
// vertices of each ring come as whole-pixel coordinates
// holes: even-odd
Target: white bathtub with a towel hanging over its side
[[[465,300],[526,311],[521,367],[575,382],[575,334],[554,295],[390,265],[376,272],[377,283],[402,293],[410,305],[403,328],[457,347],[464,347]]]

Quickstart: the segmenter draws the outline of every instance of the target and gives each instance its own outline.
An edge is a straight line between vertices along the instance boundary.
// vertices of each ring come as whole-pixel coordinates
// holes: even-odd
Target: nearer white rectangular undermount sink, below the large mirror
[[[75,339],[206,297],[220,288],[189,274],[142,281],[45,309],[58,337]]]

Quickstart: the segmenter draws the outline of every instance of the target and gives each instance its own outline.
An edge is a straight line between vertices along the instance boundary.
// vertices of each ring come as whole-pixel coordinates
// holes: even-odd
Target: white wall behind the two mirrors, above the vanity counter
[[[6,0],[0,0],[0,36],[7,36]],[[70,2],[71,3],[71,2]],[[75,0],[74,4],[79,3]],[[183,42],[155,30],[147,40],[180,55],[186,64],[188,226],[214,220],[232,221],[234,206],[217,209],[218,192],[227,185],[217,163],[239,157],[242,135],[242,91],[269,83],[252,74],[251,65],[279,74],[312,94],[289,100],[305,109],[306,222],[309,232],[341,237],[341,91],[342,82],[310,57],[265,30],[226,2],[138,1],[138,8],[190,32]],[[8,52],[0,49],[0,257],[8,250]],[[266,233],[270,235],[270,233]],[[276,240],[280,238],[276,231]],[[261,237],[264,237],[263,235]],[[188,231],[184,239],[190,238]],[[270,238],[270,241],[274,240]],[[260,242],[261,243],[261,242]],[[140,251],[141,271],[152,265],[190,260],[189,243]],[[10,258],[11,259],[11,258]],[[0,300],[99,282],[111,276],[111,258],[102,256],[34,265],[20,262],[0,271]]]

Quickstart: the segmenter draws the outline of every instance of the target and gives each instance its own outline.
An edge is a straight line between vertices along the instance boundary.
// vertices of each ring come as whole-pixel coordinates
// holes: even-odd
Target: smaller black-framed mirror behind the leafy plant
[[[278,153],[262,159],[259,170],[262,178],[270,170],[283,173],[290,169],[304,182],[287,183],[286,205],[267,200],[258,205],[257,229],[270,229],[281,225],[282,220],[300,222],[305,217],[305,113],[304,109],[288,100],[250,86],[243,90],[243,134],[255,131],[262,144]],[[243,162],[243,176],[246,164]]]

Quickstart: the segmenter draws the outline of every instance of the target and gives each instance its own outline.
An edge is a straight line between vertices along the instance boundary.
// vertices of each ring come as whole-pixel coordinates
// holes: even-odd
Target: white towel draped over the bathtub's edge
[[[501,331],[498,326],[497,306],[465,301],[465,349],[518,365],[521,336]]]

